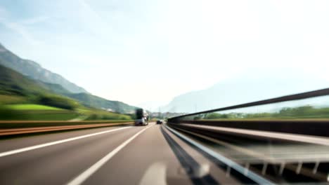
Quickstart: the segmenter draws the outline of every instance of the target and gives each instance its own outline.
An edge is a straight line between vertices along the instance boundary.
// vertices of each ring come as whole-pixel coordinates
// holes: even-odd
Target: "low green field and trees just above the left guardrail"
[[[0,120],[3,121],[131,121],[130,115],[84,107],[79,102],[57,95],[32,99],[0,95]]]

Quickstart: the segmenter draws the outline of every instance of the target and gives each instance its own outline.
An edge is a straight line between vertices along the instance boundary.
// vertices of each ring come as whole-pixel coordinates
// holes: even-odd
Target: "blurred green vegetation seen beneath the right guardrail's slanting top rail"
[[[229,114],[219,114],[210,113],[202,116],[195,116],[194,120],[207,119],[207,120],[226,120],[226,119],[325,119],[329,118],[329,107],[311,107],[302,106],[294,108],[283,108],[278,112],[263,112],[255,114],[245,114],[245,113],[229,113]],[[187,118],[186,118],[187,119]]]

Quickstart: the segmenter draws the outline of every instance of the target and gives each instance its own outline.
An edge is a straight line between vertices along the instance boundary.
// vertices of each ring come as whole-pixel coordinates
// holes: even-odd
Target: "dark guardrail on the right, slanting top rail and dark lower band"
[[[193,125],[209,125],[217,126],[223,128],[238,128],[245,130],[259,130],[259,131],[269,131],[269,132],[285,132],[290,134],[299,134],[299,135],[313,135],[321,137],[329,137],[329,118],[318,118],[318,119],[304,119],[304,118],[293,118],[293,119],[276,119],[276,118],[257,118],[257,119],[248,119],[248,118],[221,118],[221,119],[200,119],[194,120],[193,116],[205,116],[205,114],[218,112],[218,111],[227,111],[231,109],[240,109],[247,107],[256,107],[259,105],[266,104],[275,104],[280,102],[288,102],[293,100],[304,100],[313,97],[322,97],[329,95],[329,88],[322,90],[314,90],[307,93],[299,93],[295,95],[288,95],[283,97],[276,97],[269,100],[261,100],[257,102],[250,102],[246,104],[238,104],[231,107],[224,107],[220,109],[212,109],[209,111],[200,111],[193,114],[186,114],[183,116],[176,116],[174,118],[169,118],[168,123],[170,124],[179,124],[179,123],[188,123]],[[247,108],[248,109],[248,108]]]

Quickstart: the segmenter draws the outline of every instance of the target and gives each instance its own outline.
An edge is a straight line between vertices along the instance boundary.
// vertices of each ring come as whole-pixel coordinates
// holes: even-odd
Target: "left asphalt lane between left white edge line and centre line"
[[[0,184],[65,184],[141,129],[127,128],[1,157]]]

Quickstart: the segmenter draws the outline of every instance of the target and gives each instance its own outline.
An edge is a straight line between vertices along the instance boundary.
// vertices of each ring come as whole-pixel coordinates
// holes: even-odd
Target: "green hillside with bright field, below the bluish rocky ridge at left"
[[[115,107],[115,111],[125,112],[129,111],[129,108],[132,109],[121,102],[98,102],[100,99],[86,93],[70,93],[58,84],[31,79],[0,64],[0,120],[131,120],[130,116],[89,106],[93,102],[96,102],[94,107],[108,102],[104,106]],[[83,103],[84,100],[88,101]]]

